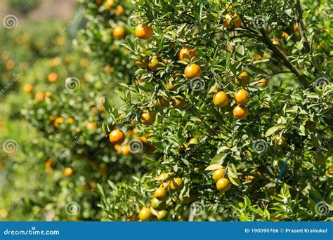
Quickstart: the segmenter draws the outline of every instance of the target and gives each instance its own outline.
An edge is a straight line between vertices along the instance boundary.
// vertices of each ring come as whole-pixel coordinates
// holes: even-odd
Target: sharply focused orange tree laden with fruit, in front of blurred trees
[[[112,126],[134,121],[156,150],[101,189],[109,217],[332,218],[331,13],[327,1],[136,1],[126,47],[140,69]]]

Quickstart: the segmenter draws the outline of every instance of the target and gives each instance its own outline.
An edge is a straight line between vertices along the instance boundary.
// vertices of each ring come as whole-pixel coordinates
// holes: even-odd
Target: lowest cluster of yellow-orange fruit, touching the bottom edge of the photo
[[[162,173],[159,179],[166,179],[167,173]],[[169,182],[163,182],[157,189],[155,189],[154,197],[150,203],[150,207],[154,209],[155,215],[158,220],[162,220],[168,214],[165,210],[166,200],[168,199],[168,189],[171,192],[180,192],[184,187],[184,182],[181,178],[172,178]],[[143,206],[139,212],[139,219],[141,221],[152,220],[152,209],[148,206]]]

